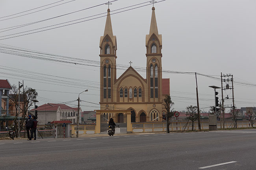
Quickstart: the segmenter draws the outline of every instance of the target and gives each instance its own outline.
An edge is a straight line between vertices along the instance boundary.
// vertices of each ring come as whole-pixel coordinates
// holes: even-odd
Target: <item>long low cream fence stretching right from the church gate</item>
[[[209,122],[202,121],[200,122],[202,130],[209,129]],[[217,128],[223,128],[223,122],[217,122]],[[225,121],[224,128],[233,128],[233,121]],[[249,128],[249,121],[237,121],[237,128]],[[192,122],[170,122],[169,125],[170,131],[181,130],[192,130]],[[194,129],[198,130],[198,122],[194,122]],[[145,123],[132,123],[132,132],[166,132],[166,122],[145,122]]]

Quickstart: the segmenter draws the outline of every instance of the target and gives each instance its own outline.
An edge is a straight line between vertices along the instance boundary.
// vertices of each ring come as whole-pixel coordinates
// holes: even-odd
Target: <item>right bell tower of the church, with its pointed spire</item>
[[[147,86],[148,101],[161,102],[162,97],[162,35],[158,34],[155,7],[152,7],[152,16],[149,34],[146,35],[147,57]]]

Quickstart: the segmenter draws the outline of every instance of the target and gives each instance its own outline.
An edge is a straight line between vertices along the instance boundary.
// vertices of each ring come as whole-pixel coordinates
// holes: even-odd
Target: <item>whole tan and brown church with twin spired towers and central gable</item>
[[[131,122],[162,121],[166,113],[162,100],[170,95],[170,82],[162,79],[161,49],[162,35],[158,34],[155,8],[152,7],[150,31],[146,35],[147,77],[143,78],[132,66],[117,77],[117,38],[113,35],[108,9],[99,55],[100,110],[106,110],[108,119],[112,117],[115,122],[123,122],[122,113],[114,114],[110,110],[132,110]]]

